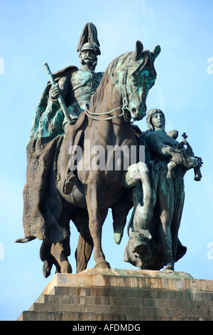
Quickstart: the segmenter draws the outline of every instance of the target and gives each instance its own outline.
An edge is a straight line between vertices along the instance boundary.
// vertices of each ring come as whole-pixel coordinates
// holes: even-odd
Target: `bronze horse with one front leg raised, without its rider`
[[[124,168],[108,169],[107,148],[128,148],[135,146],[138,152],[138,143],[130,123],[131,118],[141,120],[146,115],[146,97],[149,89],[154,85],[156,72],[154,68],[155,58],[160,53],[160,46],[156,46],[153,52],[143,51],[143,44],[136,42],[133,52],[124,53],[112,61],[104,73],[96,93],[90,100],[89,110],[80,115],[78,123],[84,123],[84,130],[77,143],[81,143],[82,158],[77,165],[78,182],[73,187],[70,195],[63,192],[64,182],[67,177],[65,166],[69,165],[68,155],[70,145],[73,144],[73,125],[67,125],[65,138],[58,155],[58,190],[64,198],[66,207],[80,207],[87,210],[89,215],[89,233],[94,244],[94,260],[96,267],[110,268],[102,251],[102,225],[107,210],[121,199],[125,188],[136,185],[142,181],[144,215],[148,212],[148,205],[152,193],[149,182],[148,169],[143,162],[128,165]],[[83,120],[83,121],[82,121]],[[75,127],[76,129],[76,127]],[[78,134],[78,133],[77,133]],[[77,137],[77,136],[76,136]],[[88,155],[85,149],[89,141],[91,148],[104,148],[105,165],[102,170],[91,168],[94,155]],[[71,143],[71,144],[70,144]],[[114,155],[114,152],[111,153]],[[88,165],[89,168],[80,168]],[[116,235],[116,242],[121,239],[121,234]],[[60,266],[60,272],[72,272],[65,254],[62,242],[52,244],[51,254]]]

